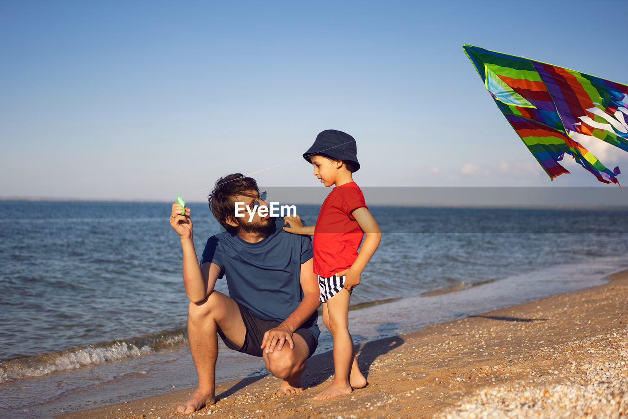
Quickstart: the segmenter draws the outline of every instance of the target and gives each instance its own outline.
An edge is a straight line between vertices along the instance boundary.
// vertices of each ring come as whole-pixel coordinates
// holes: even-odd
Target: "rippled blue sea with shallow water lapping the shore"
[[[220,226],[188,206],[200,257]],[[320,206],[297,208],[315,223]],[[352,294],[354,342],[604,284],[628,267],[627,209],[371,206],[382,241]],[[0,201],[0,417],[195,386],[169,216],[170,203]],[[220,344],[217,381],[267,373]]]

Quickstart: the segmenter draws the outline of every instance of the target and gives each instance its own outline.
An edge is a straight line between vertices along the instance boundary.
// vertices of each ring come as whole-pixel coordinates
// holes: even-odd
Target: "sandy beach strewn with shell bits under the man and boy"
[[[324,330],[324,327],[322,327]],[[327,333],[324,331],[323,333]],[[217,384],[221,418],[500,418],[628,415],[628,271],[608,284],[432,325],[357,347],[369,385],[312,399],[333,374],[315,355],[305,391],[275,396],[279,380]],[[192,389],[56,418],[179,418]],[[72,406],[69,407],[72,409]]]

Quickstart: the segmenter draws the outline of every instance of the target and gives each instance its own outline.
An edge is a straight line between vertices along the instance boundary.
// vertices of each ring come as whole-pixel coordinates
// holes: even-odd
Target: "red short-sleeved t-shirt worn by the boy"
[[[364,232],[351,211],[368,208],[355,182],[332,189],[320,208],[314,229],[314,273],[330,277],[351,267]]]

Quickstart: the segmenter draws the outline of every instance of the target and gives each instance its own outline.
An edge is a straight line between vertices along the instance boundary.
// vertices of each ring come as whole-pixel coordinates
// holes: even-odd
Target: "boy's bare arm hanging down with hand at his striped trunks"
[[[377,250],[379,246],[379,242],[382,240],[382,232],[379,230],[379,225],[377,225],[377,221],[371,215],[371,212],[365,207],[356,208],[352,211],[351,215],[354,216],[355,221],[357,221],[360,228],[366,235],[364,238],[364,242],[362,242],[362,247],[360,248],[360,253],[355,258],[355,262],[349,269],[345,269],[342,272],[338,272],[337,276],[347,276],[345,277],[344,288],[347,291],[351,291],[360,283],[360,275],[362,271],[364,271],[364,267],[369,260],[371,260],[372,255]]]

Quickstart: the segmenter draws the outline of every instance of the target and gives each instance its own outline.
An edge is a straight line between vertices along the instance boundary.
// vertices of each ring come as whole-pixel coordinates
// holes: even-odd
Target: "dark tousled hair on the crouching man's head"
[[[255,179],[246,177],[241,173],[234,173],[218,179],[212,193],[207,196],[209,209],[212,210],[214,218],[227,232],[231,233],[236,230],[236,227],[227,224],[227,218],[234,219],[235,198],[247,191],[259,193]]]

